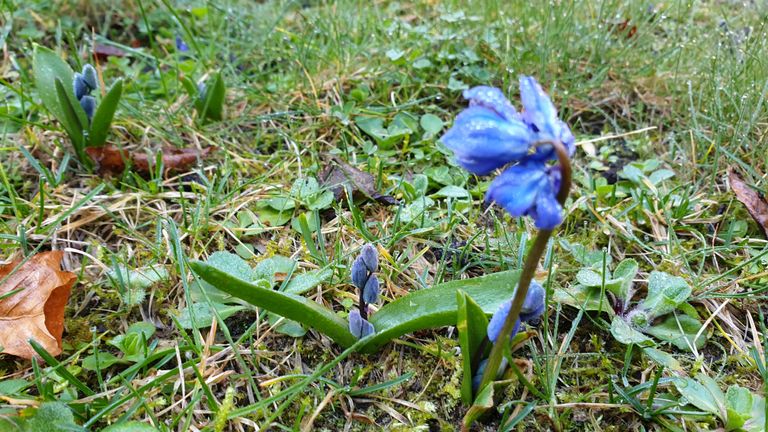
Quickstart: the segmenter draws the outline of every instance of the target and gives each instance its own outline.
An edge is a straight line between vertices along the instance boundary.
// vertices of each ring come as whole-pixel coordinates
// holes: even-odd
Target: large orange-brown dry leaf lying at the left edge
[[[39,253],[14,273],[21,260],[0,266],[0,281],[4,280],[0,284],[0,346],[4,354],[32,358],[36,354],[29,339],[52,355],[61,354],[64,307],[77,279],[74,273],[60,270],[63,255],[61,251]]]

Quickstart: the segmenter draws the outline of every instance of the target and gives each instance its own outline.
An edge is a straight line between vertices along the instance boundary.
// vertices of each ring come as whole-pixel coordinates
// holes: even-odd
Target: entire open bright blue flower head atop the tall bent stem
[[[547,162],[556,159],[551,144],[559,141],[573,156],[575,138],[557,116],[549,96],[532,77],[520,77],[522,112],[494,87],[464,91],[469,108],[462,111],[441,141],[467,171],[486,175],[509,164],[486,193],[512,216],[530,216],[539,229],[563,221],[557,201],[561,172]]]

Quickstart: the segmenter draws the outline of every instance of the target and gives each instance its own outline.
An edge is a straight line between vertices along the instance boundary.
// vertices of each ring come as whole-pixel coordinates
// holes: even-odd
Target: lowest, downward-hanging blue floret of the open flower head
[[[485,199],[504,207],[512,216],[531,216],[539,229],[554,229],[563,222],[557,200],[560,170],[530,159],[511,166],[496,177]]]

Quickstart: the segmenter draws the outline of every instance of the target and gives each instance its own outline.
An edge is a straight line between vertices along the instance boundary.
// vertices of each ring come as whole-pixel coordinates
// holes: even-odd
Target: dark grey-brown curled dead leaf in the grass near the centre
[[[320,173],[320,184],[333,191],[336,201],[346,200],[347,189],[353,199],[371,199],[384,205],[397,205],[398,201],[376,190],[376,179],[339,158],[332,158],[330,164]]]

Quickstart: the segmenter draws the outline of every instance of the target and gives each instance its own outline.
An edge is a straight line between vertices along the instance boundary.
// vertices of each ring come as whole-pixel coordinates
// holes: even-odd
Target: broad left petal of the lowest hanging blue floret
[[[496,177],[488,188],[485,200],[499,204],[512,216],[524,216],[530,212],[536,197],[548,182],[544,164],[528,161],[509,167]]]

